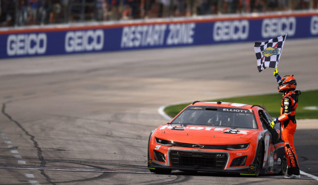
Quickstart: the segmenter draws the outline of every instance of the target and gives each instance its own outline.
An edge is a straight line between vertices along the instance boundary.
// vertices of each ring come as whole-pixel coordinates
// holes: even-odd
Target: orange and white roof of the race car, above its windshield
[[[242,108],[242,109],[252,109],[253,107],[259,107],[262,108],[259,105],[247,105],[242,103],[230,103],[230,102],[201,102],[201,101],[195,101],[189,106],[220,106],[220,107],[229,107],[229,108]],[[263,109],[263,108],[262,108]]]

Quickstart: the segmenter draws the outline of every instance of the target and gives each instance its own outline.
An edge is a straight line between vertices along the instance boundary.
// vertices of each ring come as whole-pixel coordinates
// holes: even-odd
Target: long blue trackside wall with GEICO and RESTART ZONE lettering
[[[0,58],[318,37],[318,13],[42,30],[0,30]]]

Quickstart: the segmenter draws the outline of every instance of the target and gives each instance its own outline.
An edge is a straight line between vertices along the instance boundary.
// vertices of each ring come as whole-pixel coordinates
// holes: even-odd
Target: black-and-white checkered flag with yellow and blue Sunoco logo
[[[266,42],[255,42],[254,51],[257,58],[257,68],[261,72],[266,67],[277,68],[287,34],[272,38]]]

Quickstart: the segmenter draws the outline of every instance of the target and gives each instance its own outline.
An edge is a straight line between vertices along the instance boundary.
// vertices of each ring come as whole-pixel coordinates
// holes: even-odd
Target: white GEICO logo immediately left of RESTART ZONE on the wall
[[[104,46],[103,30],[68,31],[65,34],[65,51],[99,51]]]

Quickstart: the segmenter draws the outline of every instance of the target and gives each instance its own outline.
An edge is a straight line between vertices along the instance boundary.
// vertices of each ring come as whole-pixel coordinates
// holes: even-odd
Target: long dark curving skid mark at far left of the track
[[[13,120],[12,117],[5,112],[5,106],[6,104],[3,103],[2,104],[2,109],[1,112],[3,113],[3,115],[5,115],[9,120],[11,120],[12,122],[14,122],[26,135],[30,136],[30,140],[33,142],[33,146],[37,149],[38,151],[38,159],[40,160],[40,167],[45,167],[46,161],[42,155],[42,150],[38,145],[38,142],[34,139],[35,137],[33,135],[31,135],[27,130],[25,130],[24,127],[22,127],[22,125],[17,122],[16,120]],[[50,184],[54,184],[54,182],[52,182],[51,178],[45,174],[44,170],[40,169],[39,170],[41,172],[41,174],[46,178],[46,181],[49,182]]]

